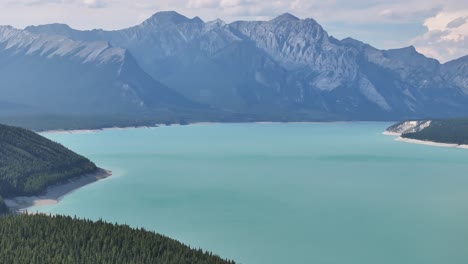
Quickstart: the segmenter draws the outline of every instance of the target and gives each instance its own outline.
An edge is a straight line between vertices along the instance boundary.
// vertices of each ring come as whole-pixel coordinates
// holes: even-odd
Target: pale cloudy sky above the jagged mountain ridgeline
[[[442,62],[468,55],[464,0],[0,0],[0,25],[119,29],[165,10],[226,22],[289,12],[314,18],[337,38],[350,36],[377,48],[414,45]]]

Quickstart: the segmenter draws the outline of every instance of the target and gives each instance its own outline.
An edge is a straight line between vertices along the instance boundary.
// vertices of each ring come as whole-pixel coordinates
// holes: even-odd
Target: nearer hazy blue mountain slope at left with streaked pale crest
[[[109,42],[12,27],[0,27],[0,87],[0,115],[146,115],[177,122],[205,109],[155,81],[129,51]]]

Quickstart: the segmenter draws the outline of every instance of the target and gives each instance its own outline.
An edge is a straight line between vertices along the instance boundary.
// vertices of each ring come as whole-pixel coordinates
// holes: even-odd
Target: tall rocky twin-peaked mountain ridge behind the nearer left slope
[[[315,20],[290,14],[226,24],[160,12],[117,31],[66,25],[26,31],[109,41],[168,87],[234,112],[359,120],[468,114],[466,62],[454,72],[454,62],[440,64],[414,47],[378,50],[336,40]]]

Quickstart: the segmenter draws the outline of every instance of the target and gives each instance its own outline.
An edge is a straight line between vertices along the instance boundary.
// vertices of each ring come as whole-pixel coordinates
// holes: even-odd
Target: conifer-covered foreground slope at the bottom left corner
[[[18,215],[0,218],[0,263],[234,262],[142,229],[65,216]]]

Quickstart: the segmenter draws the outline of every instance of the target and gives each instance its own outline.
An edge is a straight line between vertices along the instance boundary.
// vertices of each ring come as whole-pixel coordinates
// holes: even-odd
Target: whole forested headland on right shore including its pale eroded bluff
[[[415,124],[416,128],[411,123]],[[421,126],[421,124],[425,125]],[[405,128],[402,131],[396,131],[401,132],[403,138],[458,145],[468,144],[468,118],[406,121],[390,127],[389,131],[398,127]]]

